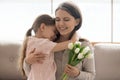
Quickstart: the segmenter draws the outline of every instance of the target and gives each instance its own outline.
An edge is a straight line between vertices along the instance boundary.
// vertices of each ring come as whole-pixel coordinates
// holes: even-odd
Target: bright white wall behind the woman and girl
[[[53,14],[63,1],[66,0],[0,0],[0,40],[23,40],[39,14]],[[111,0],[72,1],[80,7],[83,15],[78,34],[90,41],[111,42]],[[113,2],[113,41],[120,42],[120,1]]]

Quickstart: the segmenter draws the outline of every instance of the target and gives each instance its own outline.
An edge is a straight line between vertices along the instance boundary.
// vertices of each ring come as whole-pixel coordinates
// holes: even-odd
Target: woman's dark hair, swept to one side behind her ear
[[[69,39],[71,39],[71,37],[73,36],[75,31],[77,31],[81,27],[81,25],[82,25],[82,15],[81,15],[81,12],[79,10],[79,7],[77,5],[75,5],[73,2],[63,2],[63,3],[61,3],[58,6],[56,11],[58,11],[59,9],[67,11],[75,19],[80,19],[79,24],[77,26],[75,26],[75,28],[71,32],[71,35],[69,36]]]

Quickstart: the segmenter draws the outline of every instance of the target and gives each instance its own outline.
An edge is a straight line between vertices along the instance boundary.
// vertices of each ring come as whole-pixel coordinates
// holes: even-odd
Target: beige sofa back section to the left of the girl
[[[0,41],[0,80],[21,80],[18,71],[20,43]]]

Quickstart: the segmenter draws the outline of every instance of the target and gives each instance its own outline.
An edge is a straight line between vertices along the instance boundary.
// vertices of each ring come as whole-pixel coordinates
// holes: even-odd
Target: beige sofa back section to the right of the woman
[[[95,80],[120,80],[120,44],[95,44],[94,52]]]

